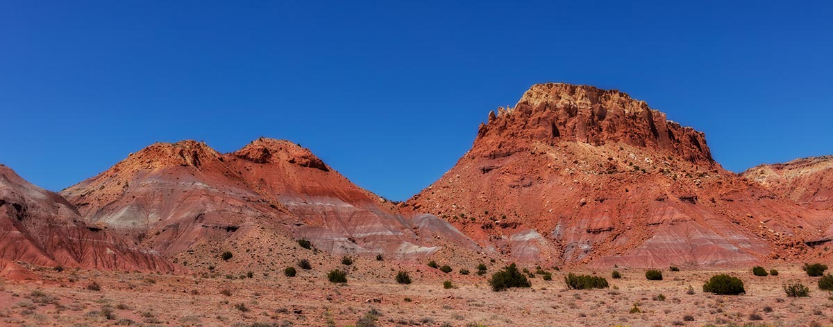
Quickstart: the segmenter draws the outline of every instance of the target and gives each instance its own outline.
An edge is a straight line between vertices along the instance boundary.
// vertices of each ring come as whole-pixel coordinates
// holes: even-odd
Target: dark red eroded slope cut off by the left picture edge
[[[101,270],[177,269],[155,251],[88,225],[61,196],[33,186],[2,165],[0,260]],[[4,265],[8,269],[4,274],[21,271],[15,265]]]

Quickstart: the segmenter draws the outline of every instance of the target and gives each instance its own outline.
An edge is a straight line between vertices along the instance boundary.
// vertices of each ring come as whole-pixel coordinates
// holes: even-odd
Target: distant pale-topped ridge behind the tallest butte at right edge
[[[755,166],[743,176],[801,206],[833,210],[833,156]]]

